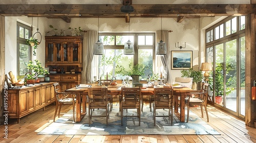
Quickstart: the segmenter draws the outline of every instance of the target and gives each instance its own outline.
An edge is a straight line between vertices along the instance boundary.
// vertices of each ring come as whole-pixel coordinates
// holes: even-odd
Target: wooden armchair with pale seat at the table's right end
[[[189,108],[190,106],[200,106],[202,117],[204,117],[203,114],[203,106],[205,108],[206,116],[207,116],[207,122],[209,122],[208,112],[207,112],[207,97],[208,97],[208,83],[202,84],[201,92],[191,92],[188,94],[188,97],[185,99],[185,102],[187,103],[187,122],[189,120]]]

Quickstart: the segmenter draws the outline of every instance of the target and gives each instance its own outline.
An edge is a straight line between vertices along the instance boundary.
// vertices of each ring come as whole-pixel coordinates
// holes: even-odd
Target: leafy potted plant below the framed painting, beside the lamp
[[[196,90],[200,90],[200,84],[204,79],[202,71],[196,71],[193,68],[189,68],[188,70],[181,70],[181,77],[193,78],[192,88]]]

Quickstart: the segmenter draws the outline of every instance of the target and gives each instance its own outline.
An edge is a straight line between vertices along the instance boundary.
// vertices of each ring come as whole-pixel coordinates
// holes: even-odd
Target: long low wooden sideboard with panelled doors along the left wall
[[[8,88],[8,117],[20,118],[55,102],[54,82],[42,82],[34,86]]]

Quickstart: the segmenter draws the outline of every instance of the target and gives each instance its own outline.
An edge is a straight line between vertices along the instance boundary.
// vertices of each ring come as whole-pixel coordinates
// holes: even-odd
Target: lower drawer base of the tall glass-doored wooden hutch
[[[81,83],[81,74],[50,74],[50,81],[56,81],[59,83],[61,92],[76,87]]]

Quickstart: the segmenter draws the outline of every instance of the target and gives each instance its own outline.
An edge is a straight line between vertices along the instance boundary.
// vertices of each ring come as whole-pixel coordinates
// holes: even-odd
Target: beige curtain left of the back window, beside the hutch
[[[98,39],[98,33],[97,31],[88,31],[87,32],[87,66],[86,66],[86,83],[92,82],[92,61],[93,61],[93,48],[94,43]]]

